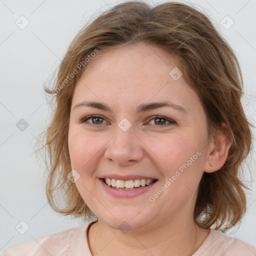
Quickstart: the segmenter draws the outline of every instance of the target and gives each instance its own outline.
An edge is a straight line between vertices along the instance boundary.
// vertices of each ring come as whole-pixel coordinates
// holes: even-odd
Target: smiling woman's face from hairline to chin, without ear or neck
[[[76,84],[68,133],[71,166],[80,175],[75,184],[112,228],[192,218],[208,154],[206,116],[177,66],[162,48],[125,45],[99,52]],[[91,101],[98,104],[86,105]],[[155,102],[169,105],[141,108]],[[139,187],[114,188],[103,178]],[[142,186],[142,179],[154,182]]]

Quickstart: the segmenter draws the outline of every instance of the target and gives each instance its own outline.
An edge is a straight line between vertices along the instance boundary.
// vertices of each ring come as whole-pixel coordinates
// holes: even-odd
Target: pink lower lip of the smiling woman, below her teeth
[[[146,191],[150,190],[155,185],[155,183],[157,183],[157,181],[155,181],[155,182],[151,183],[148,186],[141,186],[141,187],[134,188],[134,189],[131,189],[131,190],[122,190],[122,189],[116,189],[116,188],[113,188],[111,186],[108,186],[103,181],[102,178],[100,178],[99,181],[101,182],[105,191],[107,193],[109,193],[110,195],[115,196],[115,197],[128,197],[128,198],[129,197],[135,197],[139,194],[145,193]]]

